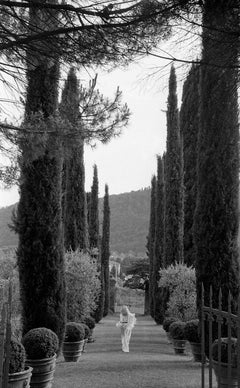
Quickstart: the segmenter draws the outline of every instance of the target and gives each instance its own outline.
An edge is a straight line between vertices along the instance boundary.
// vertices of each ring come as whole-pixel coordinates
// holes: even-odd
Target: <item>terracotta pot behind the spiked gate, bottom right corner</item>
[[[238,387],[238,372],[236,367],[231,367],[231,380],[228,380],[228,364],[220,362],[220,375],[218,374],[218,361],[213,360],[212,365],[218,382],[218,388]]]

